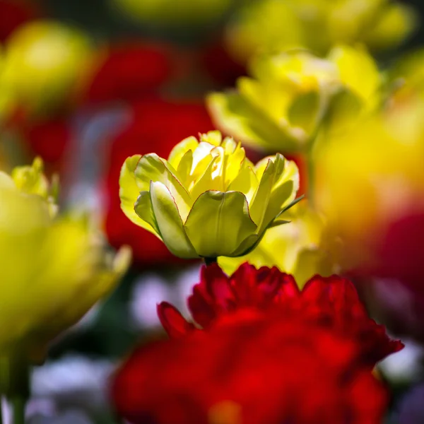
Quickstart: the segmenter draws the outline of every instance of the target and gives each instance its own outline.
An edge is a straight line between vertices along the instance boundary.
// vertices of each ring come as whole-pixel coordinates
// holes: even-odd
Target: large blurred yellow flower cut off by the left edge
[[[0,172],[0,357],[18,349],[42,361],[129,264],[126,248],[107,257],[86,218],[57,215],[54,191],[38,159],[12,176]]]

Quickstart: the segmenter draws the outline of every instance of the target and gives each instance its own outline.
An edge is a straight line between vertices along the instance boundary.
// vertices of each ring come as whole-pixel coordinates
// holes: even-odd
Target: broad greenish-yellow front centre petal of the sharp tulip
[[[204,192],[194,202],[184,228],[201,257],[233,256],[257,229],[240,192]]]

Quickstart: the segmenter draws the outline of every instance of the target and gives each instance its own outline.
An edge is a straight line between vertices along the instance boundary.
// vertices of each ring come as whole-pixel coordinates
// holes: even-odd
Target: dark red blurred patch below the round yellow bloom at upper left
[[[71,140],[71,129],[66,117],[27,122],[20,127],[34,155],[46,163],[58,163]]]

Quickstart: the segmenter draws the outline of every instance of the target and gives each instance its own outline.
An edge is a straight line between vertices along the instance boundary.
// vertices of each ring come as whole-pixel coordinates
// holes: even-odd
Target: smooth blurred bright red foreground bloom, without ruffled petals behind
[[[355,338],[278,310],[137,348],[111,394],[134,424],[379,424],[387,406]]]

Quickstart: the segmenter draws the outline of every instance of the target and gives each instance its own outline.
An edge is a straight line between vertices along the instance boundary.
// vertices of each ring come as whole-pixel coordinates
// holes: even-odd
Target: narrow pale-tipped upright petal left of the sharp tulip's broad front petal
[[[183,259],[199,257],[189,241],[175,199],[162,182],[151,182],[151,204],[162,240],[172,254]]]

